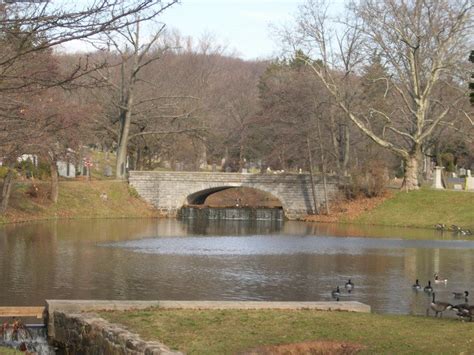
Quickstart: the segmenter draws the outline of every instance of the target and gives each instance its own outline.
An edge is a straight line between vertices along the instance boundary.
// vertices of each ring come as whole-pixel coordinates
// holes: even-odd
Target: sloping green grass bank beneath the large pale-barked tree
[[[350,223],[422,228],[442,223],[474,228],[474,192],[432,189],[397,192]]]

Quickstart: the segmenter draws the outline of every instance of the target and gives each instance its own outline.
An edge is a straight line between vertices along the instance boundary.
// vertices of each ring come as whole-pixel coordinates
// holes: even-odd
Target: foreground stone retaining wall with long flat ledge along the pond
[[[180,354],[156,341],[112,324],[97,314],[150,307],[168,309],[314,309],[370,313],[360,302],[258,302],[258,301],[113,301],[47,300],[48,337],[68,354]]]

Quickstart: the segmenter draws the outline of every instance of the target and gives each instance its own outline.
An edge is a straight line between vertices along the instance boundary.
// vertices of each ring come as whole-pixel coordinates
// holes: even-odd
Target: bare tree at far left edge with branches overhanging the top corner
[[[0,156],[9,172],[4,179],[0,213],[8,206],[13,183],[13,165],[24,153],[31,138],[47,131],[46,126],[28,130],[25,107],[33,95],[52,87],[71,86],[78,78],[95,70],[88,58],[81,58],[68,73],[51,75],[46,55],[52,48],[74,40],[95,41],[104,32],[122,29],[152,19],[175,1],[98,0],[85,4],[53,2],[13,2],[0,4]]]

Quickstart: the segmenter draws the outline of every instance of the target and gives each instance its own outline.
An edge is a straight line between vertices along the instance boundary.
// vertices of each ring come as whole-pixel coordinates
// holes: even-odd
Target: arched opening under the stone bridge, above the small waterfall
[[[197,191],[186,199],[187,206],[216,208],[283,208],[274,195],[250,187],[221,186]]]

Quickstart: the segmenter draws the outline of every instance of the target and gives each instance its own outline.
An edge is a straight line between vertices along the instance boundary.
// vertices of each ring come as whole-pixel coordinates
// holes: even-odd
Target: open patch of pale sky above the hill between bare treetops
[[[162,21],[183,35],[213,34],[245,59],[267,58],[278,53],[270,24],[291,20],[298,0],[183,0],[168,9]]]

